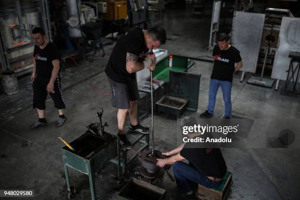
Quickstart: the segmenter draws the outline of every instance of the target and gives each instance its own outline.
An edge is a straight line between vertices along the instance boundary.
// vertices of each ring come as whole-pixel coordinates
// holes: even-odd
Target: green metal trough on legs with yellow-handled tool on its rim
[[[70,186],[68,167],[89,176],[92,200],[96,200],[94,174],[118,154],[117,144],[118,137],[110,133],[103,131],[103,135],[100,136],[87,130],[70,143],[75,151],[70,150],[67,146],[62,148],[69,199],[75,195],[75,190]]]

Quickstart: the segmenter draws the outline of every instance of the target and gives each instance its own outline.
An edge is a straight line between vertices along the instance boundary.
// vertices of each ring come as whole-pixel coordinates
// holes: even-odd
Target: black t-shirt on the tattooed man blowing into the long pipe
[[[145,45],[142,29],[133,29],[126,32],[117,41],[106,65],[105,73],[110,79],[118,83],[128,83],[135,79],[135,73],[129,74],[126,70],[126,54],[132,53],[139,57],[141,62],[148,51]]]

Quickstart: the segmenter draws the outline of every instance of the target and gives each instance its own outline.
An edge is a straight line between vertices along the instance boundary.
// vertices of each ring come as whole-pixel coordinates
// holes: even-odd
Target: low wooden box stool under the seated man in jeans
[[[233,183],[232,173],[226,172],[221,184],[214,188],[198,185],[198,198],[200,200],[225,200]]]

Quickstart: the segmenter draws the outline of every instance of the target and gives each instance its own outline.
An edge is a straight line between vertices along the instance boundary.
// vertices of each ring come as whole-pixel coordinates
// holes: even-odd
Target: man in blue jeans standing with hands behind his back
[[[243,67],[240,51],[231,46],[229,36],[226,33],[218,35],[218,45],[213,50],[214,68],[209,85],[209,99],[207,110],[200,115],[201,118],[209,118],[214,114],[216,95],[219,87],[222,89],[225,103],[225,119],[231,118],[231,87],[233,72]],[[235,66],[235,63],[236,66]]]

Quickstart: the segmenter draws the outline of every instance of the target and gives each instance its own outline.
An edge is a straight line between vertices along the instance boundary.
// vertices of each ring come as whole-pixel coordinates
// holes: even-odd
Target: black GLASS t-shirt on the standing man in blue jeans
[[[240,51],[231,46],[228,50],[220,50],[216,45],[213,50],[214,68],[210,78],[232,82],[234,63],[242,60]]]

